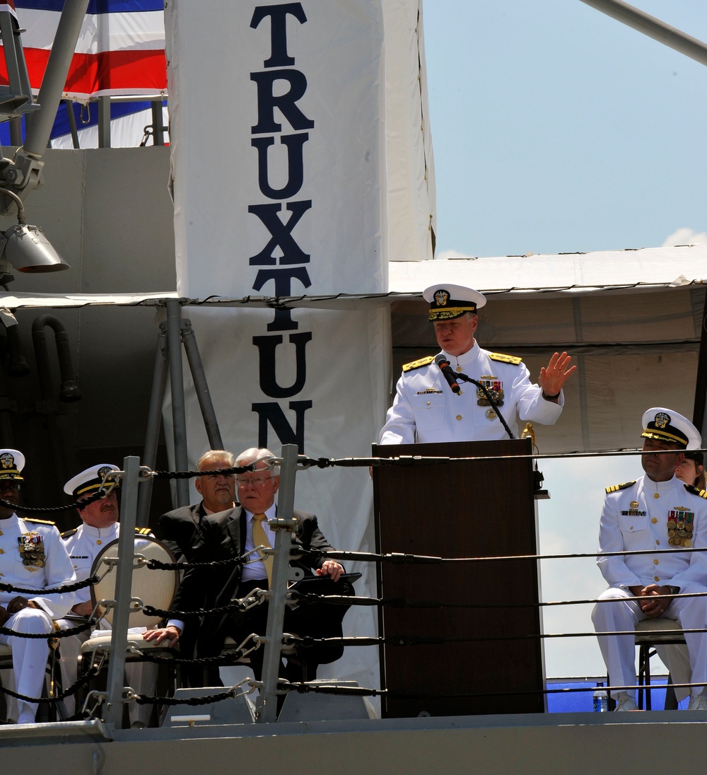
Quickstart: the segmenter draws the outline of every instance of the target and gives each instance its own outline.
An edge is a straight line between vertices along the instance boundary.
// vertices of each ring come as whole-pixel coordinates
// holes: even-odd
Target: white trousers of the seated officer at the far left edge
[[[5,627],[15,632],[45,632],[50,635],[54,631],[49,614],[40,608],[22,608],[7,622]],[[12,673],[15,678],[15,691],[27,697],[39,698],[42,694],[44,673],[49,658],[49,643],[44,638],[21,638],[18,636],[0,635],[0,643],[12,649]],[[8,720],[19,724],[32,724],[35,720],[37,703],[8,700]]]

